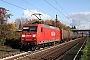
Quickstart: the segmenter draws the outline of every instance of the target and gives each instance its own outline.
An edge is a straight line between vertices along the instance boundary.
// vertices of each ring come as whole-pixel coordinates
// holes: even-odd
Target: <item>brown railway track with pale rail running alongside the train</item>
[[[36,51],[28,51],[28,52],[19,52],[13,55],[5,56],[0,58],[0,60],[52,60],[56,59],[58,56],[62,55],[76,43],[81,41],[82,39],[75,39],[69,42],[65,42],[59,45],[46,47],[44,49],[36,50]]]

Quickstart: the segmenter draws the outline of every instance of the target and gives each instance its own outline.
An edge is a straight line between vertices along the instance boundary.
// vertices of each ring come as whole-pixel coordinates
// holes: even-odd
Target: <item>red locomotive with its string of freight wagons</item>
[[[20,50],[36,50],[46,45],[53,45],[77,38],[72,31],[59,29],[44,24],[24,24],[20,34]]]

